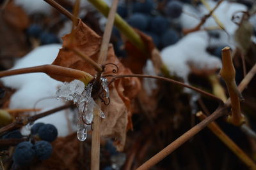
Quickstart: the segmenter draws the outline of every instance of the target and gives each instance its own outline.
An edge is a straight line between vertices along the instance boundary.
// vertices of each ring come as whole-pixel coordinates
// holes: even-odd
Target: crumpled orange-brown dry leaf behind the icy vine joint
[[[99,35],[92,31],[92,29],[90,29],[81,20],[79,20],[79,23],[72,34],[67,34],[63,37],[63,46],[68,45],[67,43],[70,41],[71,36],[73,36],[72,48],[76,48],[80,52],[83,52],[84,55],[87,55],[97,62],[102,38],[100,38]],[[131,73],[131,71],[128,68],[125,68],[117,59],[112,45],[109,45],[106,63],[116,64],[119,69],[117,74]],[[79,69],[92,75],[96,74],[95,69],[93,69],[88,62],[81,59],[81,57],[75,55],[73,52],[64,49],[60,50],[57,58],[52,64]],[[116,67],[112,65],[106,66],[104,74],[113,74],[113,69],[116,69]],[[56,77],[52,76],[52,78]],[[60,80],[59,78],[56,79]],[[61,79],[61,81],[70,80]],[[111,136],[116,138],[118,150],[122,150],[125,144],[127,127],[132,127],[132,108],[130,103],[140,91],[140,81],[137,78],[120,79],[109,87],[109,91],[111,105],[103,108],[106,118],[102,120],[102,136]]]

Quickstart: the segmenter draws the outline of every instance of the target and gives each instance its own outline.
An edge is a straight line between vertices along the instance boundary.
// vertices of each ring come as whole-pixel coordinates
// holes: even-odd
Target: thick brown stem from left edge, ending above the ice
[[[93,76],[89,73],[78,69],[72,69],[68,67],[55,66],[51,64],[35,66],[35,67],[26,67],[22,69],[13,69],[8,71],[0,71],[0,78],[4,76],[13,76],[16,74],[25,74],[25,73],[46,73],[53,74],[73,79],[78,79],[88,84],[93,80]]]

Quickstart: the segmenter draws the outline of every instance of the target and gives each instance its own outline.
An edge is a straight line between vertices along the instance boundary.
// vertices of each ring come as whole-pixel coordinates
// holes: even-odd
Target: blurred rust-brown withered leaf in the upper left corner
[[[26,13],[15,6],[13,2],[8,3],[0,15],[0,55],[3,57],[21,57],[28,53],[28,45],[24,29],[29,25]],[[4,67],[6,62],[3,63]]]

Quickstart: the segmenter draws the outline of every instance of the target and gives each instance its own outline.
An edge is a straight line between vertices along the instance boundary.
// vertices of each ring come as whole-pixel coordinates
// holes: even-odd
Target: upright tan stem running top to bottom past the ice
[[[100,46],[100,52],[98,57],[98,64],[102,66],[104,62],[106,62],[108,55],[108,45],[111,36],[111,32],[113,29],[113,24],[115,20],[116,8],[118,5],[118,0],[114,0],[112,6],[110,8],[108,14],[108,22],[106,24],[106,28],[102,38],[102,44]],[[100,81],[100,77],[102,76],[102,70],[98,71],[97,76],[95,78],[96,81]],[[97,104],[101,108],[101,101],[97,99]],[[93,131],[92,131],[92,150],[91,150],[91,169],[99,170],[100,169],[100,110],[93,111]]]

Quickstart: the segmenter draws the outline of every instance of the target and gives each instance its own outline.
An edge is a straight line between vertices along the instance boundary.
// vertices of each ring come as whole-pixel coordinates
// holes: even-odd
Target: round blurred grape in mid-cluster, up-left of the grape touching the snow
[[[168,20],[162,16],[158,15],[150,20],[150,31],[156,34],[163,34],[168,29],[168,26]]]

